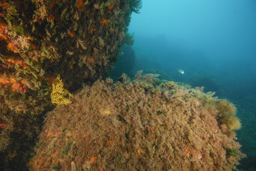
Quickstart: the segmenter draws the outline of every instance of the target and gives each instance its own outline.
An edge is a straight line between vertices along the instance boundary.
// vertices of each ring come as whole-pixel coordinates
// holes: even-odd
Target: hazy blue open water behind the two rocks
[[[238,168],[255,170],[256,0],[143,0],[140,12],[129,27],[133,71],[157,69],[175,82],[214,80],[208,88],[236,105],[243,125],[237,141],[248,158]]]

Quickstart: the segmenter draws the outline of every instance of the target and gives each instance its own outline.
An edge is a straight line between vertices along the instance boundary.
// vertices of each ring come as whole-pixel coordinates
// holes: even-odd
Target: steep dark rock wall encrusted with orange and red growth
[[[134,0],[0,1],[0,151],[10,143],[17,147],[36,138],[41,123],[36,120],[51,104],[54,78],[60,76],[72,92],[83,82],[108,75],[124,44],[133,4]],[[21,137],[11,139],[17,130]],[[16,156],[14,149],[10,151]]]

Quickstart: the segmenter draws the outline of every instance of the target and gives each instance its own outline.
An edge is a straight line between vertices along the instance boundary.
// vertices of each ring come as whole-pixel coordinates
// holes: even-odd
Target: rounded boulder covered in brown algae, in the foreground
[[[240,128],[233,104],[140,74],[85,86],[72,104],[49,112],[31,170],[231,171],[239,164],[245,155],[233,140]]]

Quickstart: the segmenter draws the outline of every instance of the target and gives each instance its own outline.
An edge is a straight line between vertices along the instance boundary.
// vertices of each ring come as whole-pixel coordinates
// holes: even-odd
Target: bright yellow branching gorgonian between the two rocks
[[[67,89],[63,89],[63,83],[59,76],[54,80],[52,86],[51,98],[53,104],[59,105],[71,103],[70,97],[73,97],[73,95],[71,95]],[[67,98],[67,96],[69,96],[69,98]]]

